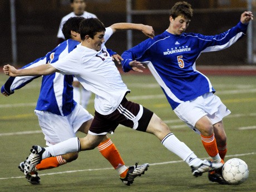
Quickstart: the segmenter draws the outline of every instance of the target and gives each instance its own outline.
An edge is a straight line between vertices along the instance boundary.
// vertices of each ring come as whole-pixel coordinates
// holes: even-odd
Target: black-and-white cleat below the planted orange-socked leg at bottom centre
[[[129,170],[127,171],[126,177],[120,178],[122,183],[124,183],[125,185],[130,185],[134,183],[134,179],[137,176],[141,176],[142,174],[144,174],[148,167],[148,163],[142,165],[138,165],[138,163],[136,163],[135,166],[130,166]]]

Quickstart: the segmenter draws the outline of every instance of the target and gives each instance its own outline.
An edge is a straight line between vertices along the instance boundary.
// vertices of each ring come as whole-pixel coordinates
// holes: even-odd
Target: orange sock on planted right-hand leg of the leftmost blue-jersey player
[[[120,175],[125,171],[127,172],[127,168],[124,166],[125,163],[122,160],[122,157],[119,154],[119,151],[116,149],[116,146],[113,144],[110,138],[104,142],[101,142],[100,145],[98,146],[98,149],[101,152],[101,155],[103,155],[110,162],[110,164],[117,171],[119,171]],[[124,168],[124,169],[119,169],[119,168]]]

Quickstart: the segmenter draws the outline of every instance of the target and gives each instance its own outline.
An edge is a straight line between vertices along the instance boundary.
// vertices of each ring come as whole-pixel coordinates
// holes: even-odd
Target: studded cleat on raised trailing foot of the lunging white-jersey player
[[[32,146],[30,151],[31,154],[29,154],[27,160],[24,161],[24,175],[29,174],[33,168],[42,161],[42,154],[45,151],[45,148],[35,145]]]

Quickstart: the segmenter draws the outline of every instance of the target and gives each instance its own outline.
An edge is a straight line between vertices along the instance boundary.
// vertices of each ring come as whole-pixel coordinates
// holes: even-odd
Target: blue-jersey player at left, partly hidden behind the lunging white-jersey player
[[[22,68],[31,68],[44,63],[54,63],[74,50],[81,42],[78,29],[79,23],[83,19],[83,17],[72,17],[68,19],[62,28],[67,41],[62,42],[51,52],[48,52],[45,57],[38,58],[36,61]],[[110,52],[111,50],[108,51]],[[113,54],[115,55],[116,61],[120,62],[121,57],[115,52],[112,52]],[[3,95],[9,96],[14,93],[14,90],[25,86],[37,77],[40,76],[10,77],[2,86],[1,92]],[[93,116],[73,100],[72,81],[72,75],[62,75],[61,73],[53,73],[52,75],[42,77],[41,91],[35,114],[38,116],[38,121],[45,135],[46,145],[48,146],[75,137],[77,131],[87,134],[88,128],[93,120]],[[102,140],[98,149],[117,170],[122,182],[127,185],[130,185],[136,176],[141,175],[147,169],[148,164],[127,168],[119,151],[107,136]],[[49,157],[42,160],[31,173],[26,173],[26,178],[31,184],[40,184],[38,170],[56,168],[76,160],[77,157],[78,152]],[[23,167],[24,163],[22,162],[19,165],[19,169],[23,171]],[[133,172],[136,173],[134,174]],[[129,174],[134,174],[134,176],[129,176]]]

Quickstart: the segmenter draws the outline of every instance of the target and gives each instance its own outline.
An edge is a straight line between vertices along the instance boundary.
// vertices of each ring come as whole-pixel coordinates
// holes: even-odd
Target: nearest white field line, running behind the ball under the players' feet
[[[255,155],[256,152],[250,152],[247,154],[234,154],[234,155],[227,155],[226,157],[239,157],[239,156],[247,156],[247,155]],[[201,159],[207,159],[208,157],[204,157]],[[150,166],[154,165],[165,165],[165,164],[174,164],[174,163],[183,163],[183,160],[179,161],[167,161],[167,162],[160,162],[160,163],[150,163]],[[40,176],[44,175],[57,175],[57,174],[67,174],[67,173],[77,173],[77,172],[83,172],[83,171],[101,171],[101,170],[109,170],[113,168],[100,168],[100,169],[80,169],[80,170],[71,170],[71,171],[62,171],[62,172],[53,172],[53,173],[47,173],[47,174],[40,174]],[[20,179],[24,178],[24,176],[12,176],[9,178],[0,178],[0,180],[6,180],[6,179]]]

